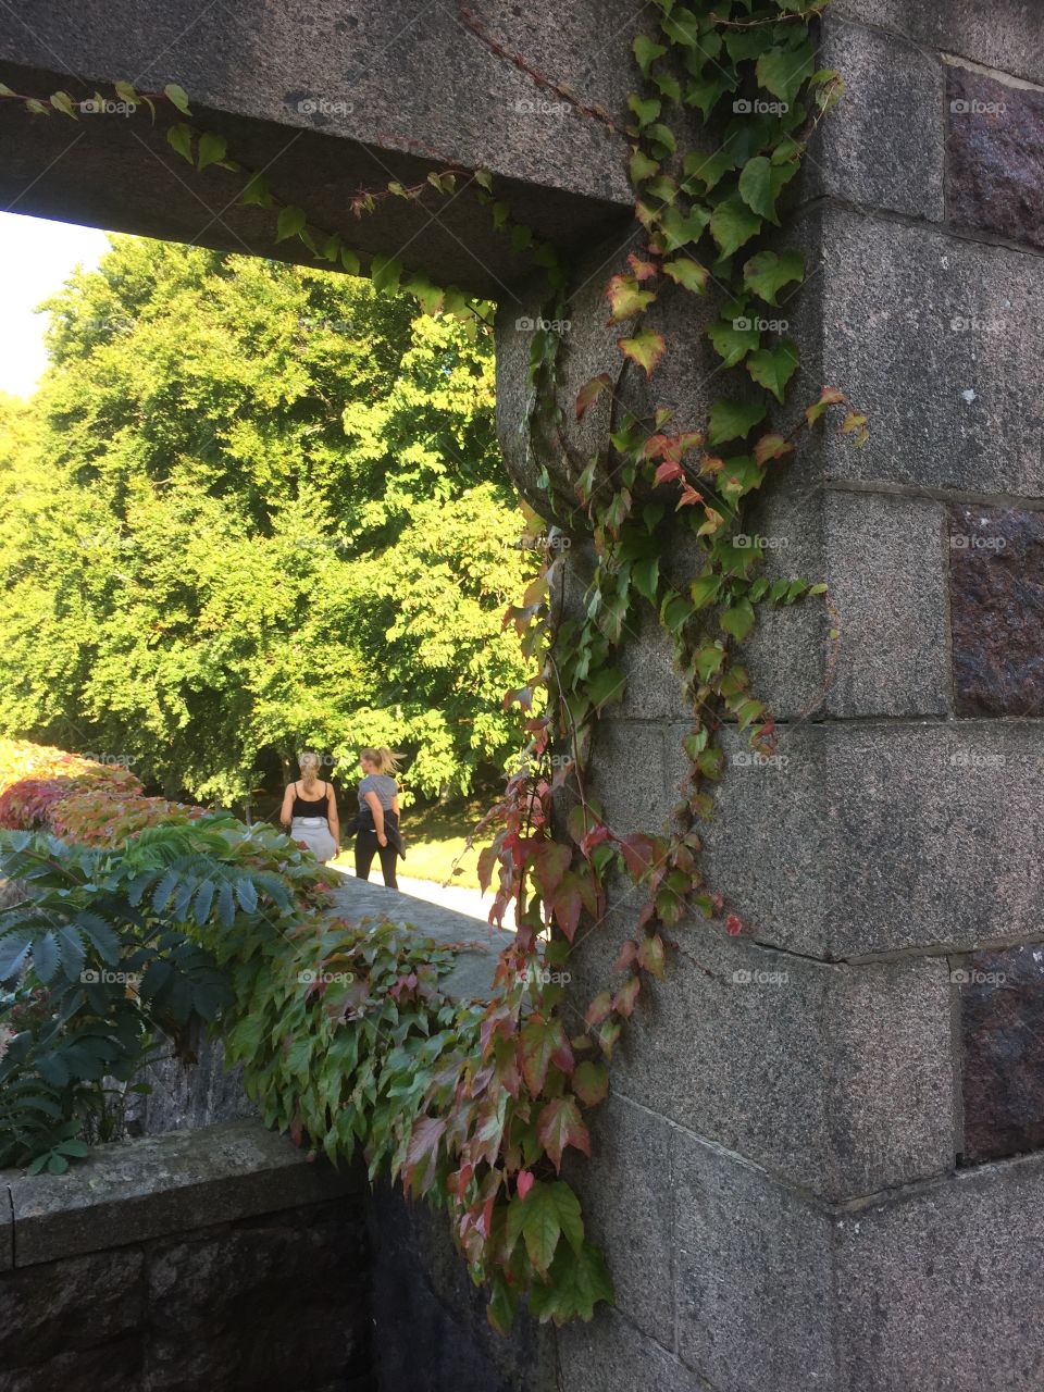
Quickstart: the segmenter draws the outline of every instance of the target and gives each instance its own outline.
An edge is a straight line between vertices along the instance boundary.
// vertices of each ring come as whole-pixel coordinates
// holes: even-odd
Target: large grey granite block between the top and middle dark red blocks
[[[821,337],[803,338],[806,380],[839,383],[870,441],[855,450],[827,430],[791,477],[1044,496],[1044,402],[1026,349],[1044,335],[1044,259],[844,209],[809,214],[805,232],[823,245],[805,290],[821,317]]]

